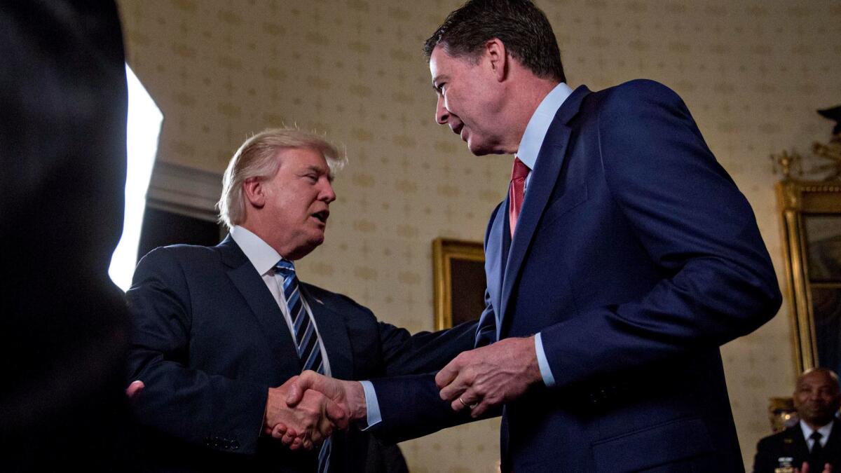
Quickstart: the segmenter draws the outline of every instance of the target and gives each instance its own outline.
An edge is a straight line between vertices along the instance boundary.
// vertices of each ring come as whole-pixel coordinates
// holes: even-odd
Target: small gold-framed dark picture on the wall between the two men
[[[436,238],[432,242],[435,329],[479,318],[484,308],[484,247],[481,242]],[[458,295],[453,305],[453,295]]]

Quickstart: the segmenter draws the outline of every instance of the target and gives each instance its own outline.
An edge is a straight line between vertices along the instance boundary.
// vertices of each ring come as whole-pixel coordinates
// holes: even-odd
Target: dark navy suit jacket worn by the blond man
[[[473,344],[475,323],[410,337],[344,295],[302,284],[344,380],[423,373]],[[257,270],[230,237],[216,247],[158,248],[136,271],[130,379],[152,470],[315,471],[316,452],[261,437],[269,386],[301,372],[292,336]],[[331,470],[362,471],[368,434],[335,436]]]

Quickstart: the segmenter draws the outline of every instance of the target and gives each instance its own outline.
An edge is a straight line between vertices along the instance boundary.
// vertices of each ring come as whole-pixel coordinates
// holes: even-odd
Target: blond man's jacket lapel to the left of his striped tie
[[[263,334],[275,359],[282,364],[282,371],[301,369],[298,353],[295,351],[292,335],[289,333],[283,312],[278,302],[266,288],[260,274],[248,261],[246,254],[234,242],[225,238],[218,246],[222,252],[222,262],[228,267],[228,277],[251,308],[251,313],[263,327]]]

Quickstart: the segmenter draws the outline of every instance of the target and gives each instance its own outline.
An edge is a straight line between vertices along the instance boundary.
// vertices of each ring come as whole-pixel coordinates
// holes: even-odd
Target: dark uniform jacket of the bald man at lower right
[[[829,433],[827,444],[822,449],[822,458],[819,459],[821,466],[811,471],[821,473],[826,463],[832,464],[833,470],[841,467],[841,433],[838,431],[836,421],[832,432]],[[809,460],[809,445],[806,438],[803,438],[800,423],[759,440],[754,458],[754,473],[774,473],[774,469],[780,466],[781,457],[791,458],[791,465],[796,468],[800,468],[804,461]]]

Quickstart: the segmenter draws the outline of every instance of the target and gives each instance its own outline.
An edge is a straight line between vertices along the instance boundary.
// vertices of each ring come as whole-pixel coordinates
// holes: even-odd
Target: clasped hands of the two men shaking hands
[[[312,449],[338,428],[368,414],[358,381],[343,381],[304,371],[283,385],[269,388],[263,433],[289,449]]]

